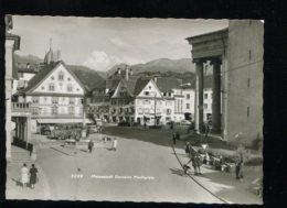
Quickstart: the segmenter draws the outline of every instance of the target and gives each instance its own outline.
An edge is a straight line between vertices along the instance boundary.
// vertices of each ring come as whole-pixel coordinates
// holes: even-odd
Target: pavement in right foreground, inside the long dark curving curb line
[[[176,147],[176,152],[182,164],[189,161],[184,150]],[[202,175],[195,176],[192,167],[190,173],[196,182],[231,204],[263,204],[262,197],[257,196],[252,188],[252,183],[263,175],[262,166],[245,166],[243,182],[235,179],[234,168],[231,173],[225,173],[215,171],[209,165],[202,165]]]

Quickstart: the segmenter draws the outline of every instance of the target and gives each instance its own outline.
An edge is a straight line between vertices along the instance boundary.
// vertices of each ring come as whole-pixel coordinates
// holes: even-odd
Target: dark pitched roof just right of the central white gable
[[[172,92],[172,89],[181,88],[182,80],[169,77],[157,77],[156,81],[158,88],[162,92]]]

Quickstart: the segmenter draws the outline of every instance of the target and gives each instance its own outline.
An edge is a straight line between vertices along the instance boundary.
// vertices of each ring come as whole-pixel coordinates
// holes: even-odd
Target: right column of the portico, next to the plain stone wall
[[[221,133],[221,59],[212,59],[212,132]]]

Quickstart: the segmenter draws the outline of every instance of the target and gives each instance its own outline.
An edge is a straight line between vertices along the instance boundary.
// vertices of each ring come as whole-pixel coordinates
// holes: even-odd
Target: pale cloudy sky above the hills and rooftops
[[[226,28],[227,20],[13,15],[19,55],[60,50],[66,64],[105,72],[116,64],[190,58],[189,36]]]

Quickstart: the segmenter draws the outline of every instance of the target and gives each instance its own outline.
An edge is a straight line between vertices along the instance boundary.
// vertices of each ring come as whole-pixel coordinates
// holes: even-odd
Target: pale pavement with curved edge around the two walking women
[[[32,164],[32,163],[31,163]],[[31,167],[31,164],[26,164]],[[22,164],[7,164],[7,182],[6,182],[6,198],[7,199],[51,199],[50,187],[45,177],[45,174],[40,166],[35,163],[39,171],[38,177],[39,183],[35,184],[35,188],[31,189],[29,187],[22,188],[19,183],[17,183],[20,177],[20,169]]]

